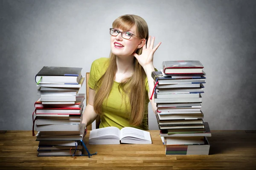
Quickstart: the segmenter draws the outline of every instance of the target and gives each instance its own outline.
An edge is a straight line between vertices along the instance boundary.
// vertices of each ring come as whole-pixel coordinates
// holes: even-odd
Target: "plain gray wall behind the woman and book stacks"
[[[164,60],[200,60],[204,121],[212,130],[256,130],[255,0],[0,0],[0,130],[31,130],[43,66],[82,67],[109,57],[113,20],[137,14]],[[80,93],[85,93],[85,86]],[[149,129],[158,130],[149,105]]]

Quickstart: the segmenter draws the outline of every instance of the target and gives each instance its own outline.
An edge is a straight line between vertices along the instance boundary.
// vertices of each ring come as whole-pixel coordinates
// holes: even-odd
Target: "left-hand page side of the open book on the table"
[[[100,129],[91,130],[89,139],[107,139],[107,138],[120,139],[119,136],[120,136],[119,128],[103,127]]]

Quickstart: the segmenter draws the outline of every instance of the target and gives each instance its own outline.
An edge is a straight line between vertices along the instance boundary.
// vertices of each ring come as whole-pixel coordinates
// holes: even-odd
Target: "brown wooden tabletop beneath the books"
[[[88,134],[90,132],[88,131]],[[0,169],[13,170],[255,170],[256,130],[212,130],[207,156],[166,156],[159,130],[150,130],[153,144],[89,145],[98,155],[37,157],[31,131],[0,131]]]

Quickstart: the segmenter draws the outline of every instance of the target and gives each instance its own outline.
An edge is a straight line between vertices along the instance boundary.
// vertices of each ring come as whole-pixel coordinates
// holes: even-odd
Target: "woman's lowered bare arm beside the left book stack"
[[[93,90],[92,88],[89,88],[88,104],[84,109],[83,120],[82,120],[82,124],[85,124],[86,126],[92,124],[92,122],[99,116],[93,109],[94,96],[95,96],[95,90]]]

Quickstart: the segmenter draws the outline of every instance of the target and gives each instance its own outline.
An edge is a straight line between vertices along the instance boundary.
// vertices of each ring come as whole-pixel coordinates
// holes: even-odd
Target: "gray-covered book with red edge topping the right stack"
[[[200,61],[163,61],[164,74],[202,74],[204,66]]]

